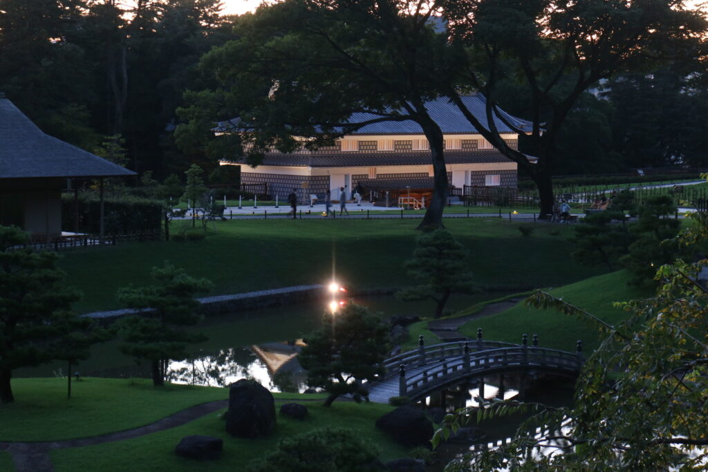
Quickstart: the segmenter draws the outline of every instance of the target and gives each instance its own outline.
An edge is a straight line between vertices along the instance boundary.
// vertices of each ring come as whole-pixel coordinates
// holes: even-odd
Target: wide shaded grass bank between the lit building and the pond
[[[350,287],[403,287],[413,282],[403,263],[420,234],[416,225],[396,219],[224,221],[204,241],[80,248],[66,251],[60,265],[84,292],[75,305],[83,313],[121,308],[116,290],[150,283],[151,267],[165,260],[212,280],[212,294],[326,283],[333,266]],[[519,223],[503,219],[450,219],[445,225],[469,249],[469,267],[481,285],[545,287],[602,272],[573,263],[566,225],[538,224],[530,237],[521,236]]]

